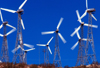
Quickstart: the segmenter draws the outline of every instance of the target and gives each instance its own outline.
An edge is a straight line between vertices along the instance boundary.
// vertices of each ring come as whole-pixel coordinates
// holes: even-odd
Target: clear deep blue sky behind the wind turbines
[[[0,7],[17,10],[23,1],[24,0],[1,0]],[[98,25],[98,28],[93,28],[93,37],[96,58],[100,62],[99,2],[99,0],[88,0],[89,8],[96,9],[94,16],[97,18],[97,21],[93,19],[93,24]],[[80,23],[77,21],[78,18],[76,15],[76,10],[79,10],[80,15],[84,13],[86,9],[85,0],[28,0],[23,9],[24,14],[22,15],[22,19],[26,28],[25,30],[23,30],[23,42],[27,44],[32,44],[36,48],[34,51],[27,53],[27,63],[39,64],[44,62],[42,50],[45,49],[45,47],[38,47],[36,46],[36,44],[45,44],[52,36],[54,36],[54,39],[51,41],[50,47],[53,54],[49,55],[49,58],[50,63],[53,62],[55,34],[41,35],[41,32],[56,30],[60,18],[63,17],[64,20],[59,28],[59,32],[66,39],[67,43],[64,44],[62,40],[59,38],[61,62],[62,66],[74,66],[77,60],[78,46],[73,51],[71,50],[71,47],[78,41],[78,38],[76,35],[71,37],[70,34],[74,31],[74,28],[80,25]],[[4,21],[8,21],[10,25],[17,27],[17,14],[2,11],[2,15]],[[87,23],[88,15],[86,15],[82,19],[82,21]],[[11,30],[11,28],[8,27],[7,31],[9,30]],[[3,29],[0,30],[1,33],[3,33],[2,31]],[[11,52],[11,50],[15,48],[16,34],[17,31],[15,31],[7,37],[10,62],[12,62],[13,58],[13,53]],[[86,26],[84,27],[84,37],[87,37]],[[3,38],[1,37],[0,50],[2,46],[2,40]]]

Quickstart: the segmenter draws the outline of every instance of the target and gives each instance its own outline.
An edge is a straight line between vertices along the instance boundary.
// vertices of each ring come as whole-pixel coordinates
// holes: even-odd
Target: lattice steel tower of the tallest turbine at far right
[[[88,11],[89,13],[89,17],[88,17],[88,24],[92,25],[92,12],[94,12],[94,10]],[[89,53],[90,47],[93,51],[93,53]],[[96,62],[96,54],[95,54],[95,48],[94,48],[94,40],[93,40],[93,32],[92,32],[92,27],[88,26],[88,34],[87,34],[87,43],[86,43],[86,48],[85,48],[85,64],[90,64],[91,60],[92,62]]]

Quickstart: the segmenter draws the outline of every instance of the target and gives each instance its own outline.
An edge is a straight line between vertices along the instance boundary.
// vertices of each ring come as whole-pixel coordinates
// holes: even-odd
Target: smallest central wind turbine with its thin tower
[[[46,46],[46,63],[49,64],[49,54],[48,54],[48,50],[50,52],[50,54],[52,54],[52,51],[49,47],[49,44],[51,42],[51,40],[53,39],[53,37],[47,42],[47,44],[37,44],[37,46]]]

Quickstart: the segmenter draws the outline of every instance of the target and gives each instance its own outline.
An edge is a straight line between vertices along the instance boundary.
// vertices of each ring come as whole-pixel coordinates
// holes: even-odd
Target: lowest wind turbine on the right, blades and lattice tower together
[[[80,66],[80,65],[84,65],[84,41],[87,41],[87,39],[83,38],[83,36],[79,35],[79,33],[77,32],[77,37],[78,37],[78,41],[74,44],[74,46],[71,48],[72,50],[75,49],[75,47],[79,44],[79,49],[78,49],[78,56],[77,56],[77,61],[76,61],[76,66]]]

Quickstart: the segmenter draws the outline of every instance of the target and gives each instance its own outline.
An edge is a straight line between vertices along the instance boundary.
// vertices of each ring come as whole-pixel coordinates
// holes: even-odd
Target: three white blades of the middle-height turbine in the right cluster
[[[73,36],[82,26],[90,26],[90,27],[98,28],[97,25],[90,25],[90,24],[86,24],[86,23],[82,22],[80,19],[81,17],[80,17],[78,10],[76,10],[76,14],[78,17],[78,21],[81,23],[81,25],[71,34],[71,36]]]

